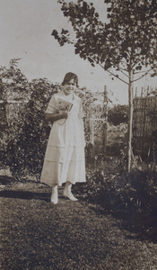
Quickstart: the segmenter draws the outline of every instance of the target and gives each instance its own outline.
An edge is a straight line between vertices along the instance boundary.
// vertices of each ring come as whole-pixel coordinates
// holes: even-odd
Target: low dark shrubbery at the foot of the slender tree
[[[95,171],[88,171],[87,182],[75,187],[84,200],[100,205],[119,220],[120,226],[139,238],[156,242],[157,172],[134,169],[130,175],[122,157],[110,157]],[[146,218],[145,218],[146,217]]]

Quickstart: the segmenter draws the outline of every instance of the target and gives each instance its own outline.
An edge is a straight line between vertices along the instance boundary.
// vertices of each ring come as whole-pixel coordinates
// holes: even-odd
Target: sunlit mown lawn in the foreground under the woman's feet
[[[35,182],[2,184],[1,269],[156,270],[157,245],[123,228],[109,211]]]

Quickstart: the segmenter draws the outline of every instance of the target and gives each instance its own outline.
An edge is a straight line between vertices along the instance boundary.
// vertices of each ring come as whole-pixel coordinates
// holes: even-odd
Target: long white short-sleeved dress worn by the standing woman
[[[46,113],[55,113],[57,97],[68,100],[64,92],[54,94]],[[62,185],[66,181],[75,184],[85,182],[83,107],[81,99],[74,94],[73,107],[64,124],[52,125],[41,172],[42,183]]]

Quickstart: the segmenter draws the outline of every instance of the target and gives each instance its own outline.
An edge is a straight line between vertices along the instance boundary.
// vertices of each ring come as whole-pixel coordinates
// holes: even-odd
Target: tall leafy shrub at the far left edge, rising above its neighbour
[[[12,154],[8,152],[11,141],[16,144],[18,134],[22,132],[22,119],[25,117],[26,103],[31,96],[30,84],[26,76],[17,68],[18,61],[19,58],[13,59],[10,61],[10,67],[0,69],[1,98],[3,100],[1,103],[1,162],[7,165],[10,163],[10,155],[14,155],[14,152]],[[21,103],[23,99],[26,103]],[[21,103],[21,106],[18,103],[12,103],[13,100]],[[11,108],[12,110],[10,110]]]

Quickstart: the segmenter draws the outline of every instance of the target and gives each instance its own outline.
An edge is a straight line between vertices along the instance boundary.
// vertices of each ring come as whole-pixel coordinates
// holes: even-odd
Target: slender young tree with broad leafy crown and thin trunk
[[[68,30],[52,31],[60,46],[73,44],[75,54],[100,65],[111,76],[116,76],[128,86],[128,171],[131,167],[131,140],[133,120],[133,83],[156,69],[155,0],[105,0],[108,21],[100,21],[93,4],[78,0],[58,1],[65,17],[72,24],[75,37]],[[113,71],[112,71],[113,70]]]

